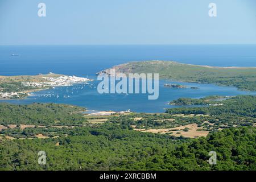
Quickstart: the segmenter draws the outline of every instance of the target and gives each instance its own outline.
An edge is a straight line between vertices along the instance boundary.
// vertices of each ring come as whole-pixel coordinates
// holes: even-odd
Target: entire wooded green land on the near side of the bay
[[[102,123],[91,123],[93,117],[86,117],[81,112],[85,108],[77,106],[0,104],[0,127],[5,126],[0,130],[0,170],[256,170],[256,96],[218,102],[223,105],[110,115]],[[203,115],[176,115],[191,113]],[[209,134],[185,138],[131,127],[189,123]],[[24,124],[34,127],[23,129]],[[46,138],[35,137],[38,134]],[[39,151],[46,152],[45,165],[38,164]],[[216,165],[208,162],[210,151],[217,154]]]

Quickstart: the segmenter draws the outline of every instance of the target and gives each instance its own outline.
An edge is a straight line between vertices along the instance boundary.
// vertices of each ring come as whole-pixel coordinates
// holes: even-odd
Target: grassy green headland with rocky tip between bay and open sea
[[[113,67],[115,73],[159,73],[160,78],[176,81],[201,82],[236,86],[242,90],[256,90],[256,68],[209,67],[177,63],[175,61],[130,62]],[[105,70],[110,73],[110,69]]]

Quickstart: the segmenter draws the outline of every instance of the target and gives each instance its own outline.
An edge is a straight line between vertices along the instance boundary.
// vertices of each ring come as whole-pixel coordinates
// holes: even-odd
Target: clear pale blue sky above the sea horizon
[[[0,44],[256,44],[256,1],[0,0]]]

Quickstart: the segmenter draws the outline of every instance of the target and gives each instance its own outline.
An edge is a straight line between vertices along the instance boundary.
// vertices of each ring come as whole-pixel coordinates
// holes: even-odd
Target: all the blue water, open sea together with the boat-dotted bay
[[[19,56],[11,56],[12,54]],[[0,75],[37,75],[53,72],[96,79],[95,73],[102,69],[128,61],[144,60],[174,60],[180,63],[221,67],[256,67],[256,45],[0,46]],[[80,84],[43,90],[25,100],[1,102],[14,104],[55,102],[84,106],[89,110],[130,109],[138,112],[163,112],[164,108],[174,107],[168,105],[168,101],[179,97],[256,95],[256,92],[211,84],[181,83],[188,87],[197,86],[200,89],[170,89],[163,86],[166,83],[173,82],[160,81],[158,100],[148,100],[147,94],[99,94],[98,82],[93,81],[89,85]]]

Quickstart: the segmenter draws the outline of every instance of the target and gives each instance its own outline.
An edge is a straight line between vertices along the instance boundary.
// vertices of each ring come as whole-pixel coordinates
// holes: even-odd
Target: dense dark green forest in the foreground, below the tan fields
[[[68,131],[67,131],[68,133]],[[77,127],[56,139],[2,140],[1,170],[255,170],[256,130],[231,128],[199,139],[140,133],[106,124]],[[56,143],[59,142],[59,146]],[[38,164],[46,151],[47,163]],[[209,151],[217,164],[208,163]]]

